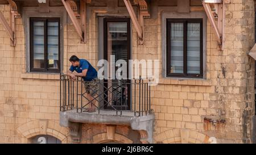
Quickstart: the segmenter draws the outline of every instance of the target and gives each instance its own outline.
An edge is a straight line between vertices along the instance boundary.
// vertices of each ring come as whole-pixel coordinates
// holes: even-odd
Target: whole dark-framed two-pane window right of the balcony
[[[203,20],[167,19],[167,76],[203,77]]]

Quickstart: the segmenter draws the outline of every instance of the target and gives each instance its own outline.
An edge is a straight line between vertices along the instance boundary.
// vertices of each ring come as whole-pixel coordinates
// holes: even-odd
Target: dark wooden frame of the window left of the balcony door
[[[34,68],[34,22],[44,22],[44,68]],[[59,61],[58,69],[49,68],[48,64],[48,22],[58,22],[58,48],[59,48]],[[60,73],[60,18],[30,18],[30,72],[39,73]]]

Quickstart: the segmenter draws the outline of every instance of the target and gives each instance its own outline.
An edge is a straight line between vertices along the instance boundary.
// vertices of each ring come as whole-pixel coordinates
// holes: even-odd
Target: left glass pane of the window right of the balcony
[[[170,73],[183,73],[183,23],[171,23]]]

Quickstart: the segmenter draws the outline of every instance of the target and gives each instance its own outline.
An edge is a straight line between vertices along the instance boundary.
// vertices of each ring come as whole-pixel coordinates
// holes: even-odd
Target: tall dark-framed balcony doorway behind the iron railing
[[[104,33],[104,59],[108,60],[110,68],[112,67],[111,58],[114,57],[114,63],[118,60],[125,60],[128,64],[131,57],[131,34],[130,18],[106,17],[103,23]],[[118,69],[115,66],[115,71]],[[130,110],[130,82],[129,65],[127,65],[127,79],[105,79],[104,80],[104,108],[117,110]],[[123,73],[122,73],[123,74]],[[110,74],[109,74],[110,75]]]

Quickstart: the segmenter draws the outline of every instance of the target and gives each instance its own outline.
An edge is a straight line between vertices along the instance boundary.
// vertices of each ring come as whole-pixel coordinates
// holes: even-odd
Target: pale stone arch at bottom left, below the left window
[[[24,137],[22,143],[30,142],[29,139],[36,135],[51,135],[61,143],[67,143],[68,129],[53,120],[32,120],[18,127],[17,131]]]

